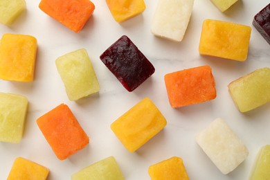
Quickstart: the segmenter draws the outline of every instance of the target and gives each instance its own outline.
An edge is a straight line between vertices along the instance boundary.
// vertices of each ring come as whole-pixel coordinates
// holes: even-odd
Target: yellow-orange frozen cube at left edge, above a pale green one
[[[0,78],[32,82],[36,55],[37,39],[35,37],[4,34],[0,42]]]

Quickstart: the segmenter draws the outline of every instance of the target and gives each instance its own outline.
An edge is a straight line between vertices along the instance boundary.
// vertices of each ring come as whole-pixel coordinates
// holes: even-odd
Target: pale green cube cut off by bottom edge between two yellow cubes
[[[87,168],[76,172],[71,176],[71,180],[124,180],[123,174],[116,163],[114,156],[102,159]]]

